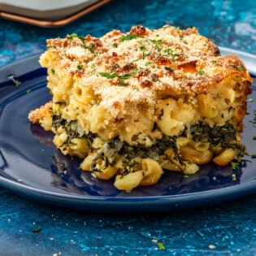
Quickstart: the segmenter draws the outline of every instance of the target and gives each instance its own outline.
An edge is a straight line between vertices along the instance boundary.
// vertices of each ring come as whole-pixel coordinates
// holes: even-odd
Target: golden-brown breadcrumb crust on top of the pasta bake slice
[[[137,37],[125,39],[130,35]],[[53,54],[56,62],[62,59],[58,63],[72,76],[90,78],[89,74],[99,76],[102,72],[115,72],[122,76],[136,68],[139,71],[141,68],[144,71],[149,70],[142,75],[139,71],[135,72],[125,80],[128,87],[146,87],[149,93],[168,89],[177,97],[185,97],[191,93],[205,92],[209,86],[212,88],[226,76],[232,78],[238,75],[251,82],[240,59],[235,55],[220,57],[218,47],[199,35],[196,28],[181,30],[166,26],[150,30],[138,25],[125,35],[113,31],[101,38],[90,35],[85,38],[57,38],[48,40],[47,46],[49,54]],[[41,63],[46,66],[43,61]],[[79,65],[83,65],[82,70],[77,70]],[[98,67],[98,70],[92,72],[92,65]],[[129,65],[130,68],[127,69]],[[238,70],[237,67],[243,68]],[[105,77],[102,79],[104,85],[101,86],[117,85],[115,78]],[[161,79],[168,82],[161,83]],[[89,82],[87,85],[101,93],[98,85],[91,85]]]

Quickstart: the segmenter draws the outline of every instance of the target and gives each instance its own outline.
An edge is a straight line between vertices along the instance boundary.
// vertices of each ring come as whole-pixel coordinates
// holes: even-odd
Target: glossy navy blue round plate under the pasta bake
[[[238,54],[249,72],[256,74],[256,57]],[[96,180],[80,171],[80,159],[61,154],[53,134],[28,121],[29,111],[50,100],[46,70],[38,56],[0,69],[0,185],[37,202],[72,209],[111,212],[150,212],[209,206],[256,192],[256,158],[246,156],[239,168],[212,163],[189,177],[167,171],[158,184],[125,193],[112,180]],[[243,143],[256,153],[256,83],[248,102]]]

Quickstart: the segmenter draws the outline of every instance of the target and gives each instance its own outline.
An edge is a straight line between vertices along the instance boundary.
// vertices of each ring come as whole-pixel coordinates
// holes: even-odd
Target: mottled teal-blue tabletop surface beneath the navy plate
[[[256,54],[254,1],[119,0],[63,28],[0,20],[0,66],[41,53],[48,37],[101,36],[133,24],[195,26],[219,46]],[[252,196],[168,214],[90,214],[42,206],[0,189],[0,255],[254,255],[255,212]]]

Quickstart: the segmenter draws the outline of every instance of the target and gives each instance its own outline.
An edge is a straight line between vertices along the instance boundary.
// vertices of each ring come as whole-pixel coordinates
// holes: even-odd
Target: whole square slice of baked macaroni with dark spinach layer
[[[82,169],[102,179],[110,167],[122,178],[142,173],[138,184],[150,184],[149,166],[159,178],[163,169],[192,173],[192,163],[224,165],[245,152],[240,133],[252,79],[241,59],[220,56],[196,28],[137,25],[99,38],[49,39],[47,47],[40,63],[53,99],[29,119],[52,130],[64,154],[85,158]],[[228,140],[214,140],[218,132]]]

